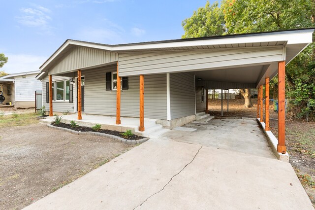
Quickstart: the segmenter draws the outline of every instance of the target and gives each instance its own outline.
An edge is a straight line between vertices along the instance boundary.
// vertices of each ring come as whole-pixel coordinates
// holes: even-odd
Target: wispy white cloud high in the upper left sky
[[[49,14],[51,10],[40,6],[33,5],[34,8],[21,8],[21,16],[16,17],[18,22],[27,27],[37,27],[43,31],[49,32],[51,27],[49,22],[52,19]]]

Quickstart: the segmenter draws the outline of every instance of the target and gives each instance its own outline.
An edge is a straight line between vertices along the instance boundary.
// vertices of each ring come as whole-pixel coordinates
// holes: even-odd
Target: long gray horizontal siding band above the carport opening
[[[122,76],[207,70],[283,60],[283,47],[119,53]]]

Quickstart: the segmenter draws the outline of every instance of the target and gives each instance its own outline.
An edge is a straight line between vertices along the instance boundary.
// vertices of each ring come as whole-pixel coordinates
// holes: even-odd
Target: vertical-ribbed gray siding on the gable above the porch
[[[88,47],[74,47],[49,70],[49,74],[60,74],[114,61],[118,61],[118,53]]]

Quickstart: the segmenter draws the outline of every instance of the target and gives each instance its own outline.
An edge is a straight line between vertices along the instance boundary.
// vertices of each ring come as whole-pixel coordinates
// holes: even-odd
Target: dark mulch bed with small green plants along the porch
[[[140,136],[137,136],[137,135],[132,135],[131,137],[125,137],[125,136],[122,135],[122,132],[111,131],[111,130],[107,130],[107,129],[99,129],[98,131],[94,131],[92,128],[86,127],[86,126],[76,126],[76,127],[72,128],[70,126],[70,124],[67,124],[67,123],[60,123],[58,125],[56,125],[55,123],[52,123],[52,125],[56,126],[56,127],[62,127],[62,128],[67,128],[67,129],[71,129],[71,130],[74,130],[74,131],[79,131],[79,132],[92,131],[92,132],[98,132],[98,133],[103,133],[103,134],[110,134],[110,135],[114,135],[114,136],[117,136],[117,137],[124,138],[126,140],[141,140],[141,139],[143,139],[143,137],[140,137]]]

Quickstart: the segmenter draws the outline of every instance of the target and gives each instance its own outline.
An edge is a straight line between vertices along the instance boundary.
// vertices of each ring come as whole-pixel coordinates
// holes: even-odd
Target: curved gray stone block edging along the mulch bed
[[[143,142],[149,140],[148,138],[143,138],[141,140],[126,140],[124,138],[117,137],[117,136],[110,135],[110,134],[103,134],[103,133],[92,132],[92,131],[79,132],[79,131],[74,131],[74,130],[71,130],[71,129],[68,129],[68,128],[53,126],[51,124],[47,124],[47,127],[52,128],[52,129],[56,129],[56,130],[66,131],[66,132],[69,132],[71,134],[76,134],[76,135],[91,135],[91,136],[107,137],[107,138],[110,138],[112,140],[116,140],[116,141],[119,141],[119,142],[122,142],[122,143],[126,143],[126,144],[138,144],[138,143],[143,143]]]

